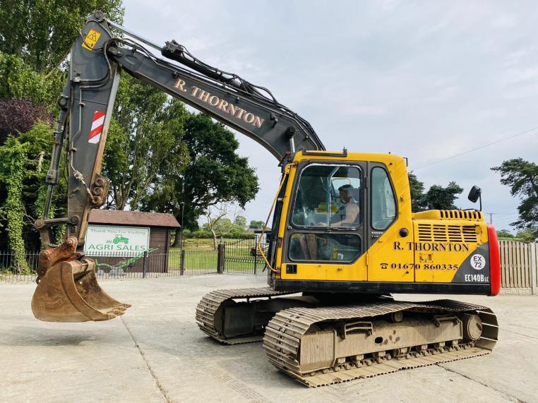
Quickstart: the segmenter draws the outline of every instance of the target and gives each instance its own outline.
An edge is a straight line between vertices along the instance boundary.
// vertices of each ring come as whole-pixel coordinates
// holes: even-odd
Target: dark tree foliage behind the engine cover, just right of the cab
[[[415,174],[409,174],[409,181],[413,212],[458,208],[454,202],[458,195],[462,193],[463,188],[455,182],[449,182],[446,187],[433,185],[430,186],[428,191],[424,192],[424,183],[419,181]]]

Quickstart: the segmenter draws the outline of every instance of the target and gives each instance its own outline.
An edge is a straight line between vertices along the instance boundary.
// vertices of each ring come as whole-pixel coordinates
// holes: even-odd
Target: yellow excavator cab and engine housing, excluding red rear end
[[[301,228],[294,228],[297,226],[291,217],[294,204],[298,203],[297,182],[301,172],[312,164],[357,166],[361,175],[358,198],[364,198],[356,200],[361,206],[360,224],[348,229],[309,226],[302,228],[302,233]],[[384,169],[388,175],[393,189],[390,197],[395,203],[394,217],[382,230],[373,229],[371,222],[371,192],[375,189],[370,179],[375,168]],[[407,167],[402,157],[356,152],[299,152],[294,162],[286,167],[285,175],[287,181],[281,193],[282,209],[274,260],[275,289],[491,294],[489,237],[482,212],[430,210],[412,213]],[[341,178],[338,180],[342,181]],[[326,209],[326,203],[314,208],[322,212]],[[289,232],[294,229],[299,237],[309,236],[307,233],[312,231],[357,234],[361,251],[348,261],[297,259],[290,253]],[[332,251],[334,257],[339,253],[337,248]],[[394,284],[394,287],[383,283]]]

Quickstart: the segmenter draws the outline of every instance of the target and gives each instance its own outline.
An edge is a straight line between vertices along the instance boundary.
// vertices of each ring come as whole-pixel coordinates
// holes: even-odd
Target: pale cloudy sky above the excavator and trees
[[[458,207],[475,207],[467,193],[482,188],[483,211],[497,229],[517,219],[520,200],[491,167],[517,157],[538,162],[534,1],[124,6],[129,30],[157,44],[177,40],[205,63],[269,88],[310,122],[327,150],[402,155],[426,188],[462,186]],[[260,180],[245,215],[265,220],[280,168],[260,145],[236,136]]]

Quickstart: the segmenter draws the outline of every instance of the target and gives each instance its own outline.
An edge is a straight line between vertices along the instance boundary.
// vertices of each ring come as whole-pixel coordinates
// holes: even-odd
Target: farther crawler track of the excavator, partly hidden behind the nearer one
[[[239,337],[225,336],[222,310],[225,303],[234,299],[261,299],[292,294],[285,291],[274,291],[269,287],[247,289],[217,289],[202,297],[196,306],[196,323],[198,327],[213,339],[224,344],[244,344],[261,342],[263,333],[255,335],[241,335]]]

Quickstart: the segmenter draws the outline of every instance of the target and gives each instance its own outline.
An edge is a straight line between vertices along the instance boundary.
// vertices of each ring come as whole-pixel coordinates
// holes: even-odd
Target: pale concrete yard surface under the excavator
[[[0,284],[0,402],[538,402],[536,296],[410,296],[491,307],[501,327],[491,354],[375,378],[305,387],[265,359],[261,343],[224,346],[194,313],[218,288],[265,277],[205,275],[102,282],[132,308],[106,322],[44,323],[35,284]]]

